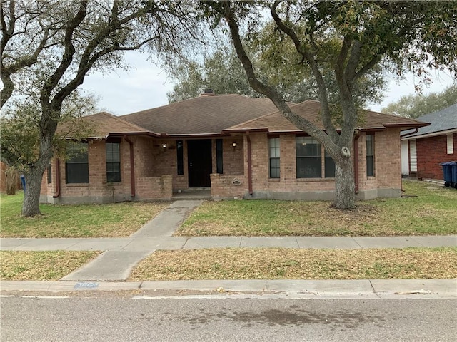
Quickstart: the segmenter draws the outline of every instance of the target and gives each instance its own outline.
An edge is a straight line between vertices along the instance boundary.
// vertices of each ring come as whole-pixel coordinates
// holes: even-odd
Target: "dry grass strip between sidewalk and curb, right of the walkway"
[[[157,251],[129,281],[197,279],[454,279],[457,248]]]

